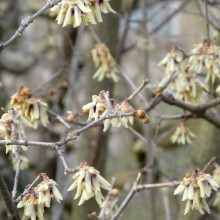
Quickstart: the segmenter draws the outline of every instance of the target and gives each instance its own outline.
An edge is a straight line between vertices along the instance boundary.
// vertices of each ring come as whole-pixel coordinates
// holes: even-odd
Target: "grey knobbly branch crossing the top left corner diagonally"
[[[35,14],[28,17],[27,19],[23,20],[21,22],[20,27],[17,29],[17,31],[14,33],[14,35],[5,41],[4,43],[0,44],[0,52],[8,47],[12,42],[14,42],[17,38],[22,36],[22,33],[25,31],[25,29],[33,23],[33,21],[39,17],[41,14],[43,14],[47,9],[52,8],[57,3],[61,2],[61,0],[51,0],[49,1],[45,6],[43,6],[40,10],[38,10]]]

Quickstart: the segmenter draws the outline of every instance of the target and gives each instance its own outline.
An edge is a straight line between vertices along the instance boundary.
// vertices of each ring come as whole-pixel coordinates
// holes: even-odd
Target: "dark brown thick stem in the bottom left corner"
[[[2,176],[1,172],[0,172],[0,196],[5,204],[8,219],[20,220],[18,210],[11,199],[8,187],[5,183],[4,177]]]

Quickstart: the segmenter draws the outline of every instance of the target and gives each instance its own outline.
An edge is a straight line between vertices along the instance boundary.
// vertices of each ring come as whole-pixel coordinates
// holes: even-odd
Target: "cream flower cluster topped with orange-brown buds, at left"
[[[21,87],[11,97],[10,106],[18,112],[22,123],[29,127],[37,128],[39,121],[43,126],[49,123],[47,104],[34,97],[28,87]]]

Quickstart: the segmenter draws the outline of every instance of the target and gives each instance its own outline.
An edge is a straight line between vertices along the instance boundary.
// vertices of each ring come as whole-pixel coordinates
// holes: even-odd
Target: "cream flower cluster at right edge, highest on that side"
[[[206,82],[212,84],[220,79],[220,47],[210,40],[204,40],[192,50],[189,58],[190,70],[201,73],[207,70]]]

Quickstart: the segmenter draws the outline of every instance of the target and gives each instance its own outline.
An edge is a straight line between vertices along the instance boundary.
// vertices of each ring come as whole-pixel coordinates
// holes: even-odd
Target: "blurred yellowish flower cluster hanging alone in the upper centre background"
[[[104,78],[110,78],[114,82],[119,81],[119,71],[116,62],[112,57],[109,48],[104,43],[96,44],[91,51],[92,59],[96,67],[99,67],[93,78],[102,81]]]

